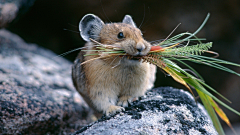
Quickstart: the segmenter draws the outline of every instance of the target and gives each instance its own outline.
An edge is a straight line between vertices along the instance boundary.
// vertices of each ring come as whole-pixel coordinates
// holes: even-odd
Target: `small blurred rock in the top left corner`
[[[0,1],[0,28],[11,23],[18,12],[25,13],[35,0],[1,0]]]

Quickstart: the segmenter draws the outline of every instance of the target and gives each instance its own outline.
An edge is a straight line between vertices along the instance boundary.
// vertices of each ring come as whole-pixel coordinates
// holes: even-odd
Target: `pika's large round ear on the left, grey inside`
[[[87,14],[79,22],[80,35],[85,41],[90,41],[89,38],[98,40],[103,25],[104,23],[99,17]]]

